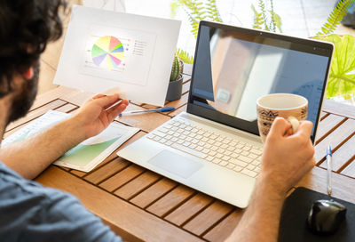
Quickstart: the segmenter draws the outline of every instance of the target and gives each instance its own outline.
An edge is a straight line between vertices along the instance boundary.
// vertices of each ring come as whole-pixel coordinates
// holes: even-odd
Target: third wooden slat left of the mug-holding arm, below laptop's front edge
[[[199,213],[202,209],[213,201],[213,198],[199,192],[187,200],[183,205],[177,207],[171,214],[165,217],[169,222],[181,226],[187,222],[194,214]]]

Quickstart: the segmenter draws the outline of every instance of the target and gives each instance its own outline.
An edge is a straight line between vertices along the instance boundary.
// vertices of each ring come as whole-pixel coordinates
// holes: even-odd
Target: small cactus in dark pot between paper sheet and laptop
[[[184,63],[182,60],[174,57],[174,62],[172,64],[170,83],[168,86],[168,92],[166,96],[167,101],[175,101],[181,98],[181,93],[183,90],[183,69]]]

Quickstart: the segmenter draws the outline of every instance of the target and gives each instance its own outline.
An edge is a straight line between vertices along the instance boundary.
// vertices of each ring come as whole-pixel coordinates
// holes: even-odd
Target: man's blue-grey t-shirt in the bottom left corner
[[[26,180],[0,162],[0,241],[122,239],[74,196]]]

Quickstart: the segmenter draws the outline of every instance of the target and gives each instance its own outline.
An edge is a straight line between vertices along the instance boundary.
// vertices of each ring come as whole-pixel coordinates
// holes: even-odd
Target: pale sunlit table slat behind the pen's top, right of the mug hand
[[[348,119],[342,125],[337,127],[335,131],[328,134],[324,140],[316,145],[314,157],[317,162],[326,157],[327,146],[330,145],[332,149],[337,148],[343,141],[344,137],[349,137],[351,133],[355,132],[355,120]]]

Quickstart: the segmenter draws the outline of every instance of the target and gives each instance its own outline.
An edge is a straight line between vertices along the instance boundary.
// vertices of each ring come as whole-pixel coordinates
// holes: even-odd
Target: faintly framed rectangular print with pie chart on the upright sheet
[[[153,33],[93,25],[80,74],[144,87],[154,54],[149,46],[155,41]]]

